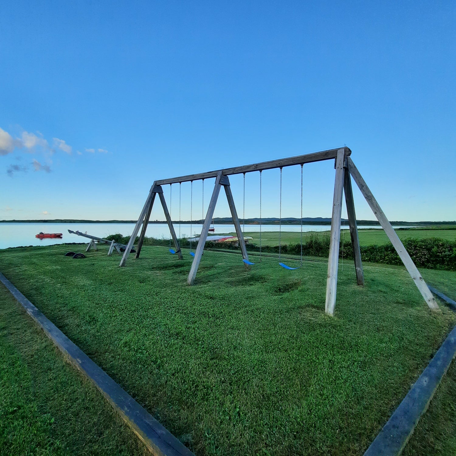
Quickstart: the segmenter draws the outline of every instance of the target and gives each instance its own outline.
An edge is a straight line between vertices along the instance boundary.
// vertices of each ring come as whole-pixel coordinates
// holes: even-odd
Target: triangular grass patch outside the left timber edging
[[[0,285],[0,454],[76,453],[146,451]]]

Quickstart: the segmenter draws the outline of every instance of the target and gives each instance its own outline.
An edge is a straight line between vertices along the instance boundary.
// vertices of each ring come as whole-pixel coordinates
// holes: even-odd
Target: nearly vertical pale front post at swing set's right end
[[[344,181],[345,149],[337,150],[336,179],[332,200],[331,242],[329,244],[328,277],[326,280],[325,312],[334,315],[337,292],[337,268],[339,266],[339,245],[341,238],[342,192]]]

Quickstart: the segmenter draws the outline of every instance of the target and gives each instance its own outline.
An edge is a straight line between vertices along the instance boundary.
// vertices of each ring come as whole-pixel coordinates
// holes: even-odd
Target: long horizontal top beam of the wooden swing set
[[[346,155],[350,155],[352,151],[348,147],[343,148]],[[236,166],[233,168],[225,168],[224,170],[208,171],[199,174],[189,174],[187,176],[173,177],[171,179],[162,179],[156,181],[159,185],[174,184],[177,182],[196,181],[198,179],[207,179],[209,177],[217,177],[218,173],[222,172],[223,176],[231,176],[233,174],[242,174],[244,172],[263,171],[273,168],[285,166],[301,165],[301,163],[312,163],[315,161],[331,160],[337,157],[337,150],[330,149],[313,154],[297,155],[295,157],[282,158],[280,160],[263,161],[252,165]]]

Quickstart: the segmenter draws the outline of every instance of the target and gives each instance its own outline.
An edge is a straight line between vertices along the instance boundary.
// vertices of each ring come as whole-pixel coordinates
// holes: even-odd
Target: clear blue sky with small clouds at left
[[[452,1],[4,2],[0,219],[135,219],[155,179],[346,144],[391,220],[455,220],[455,13]],[[242,176],[231,181],[242,214]],[[278,171],[263,183],[263,216],[278,216]],[[304,167],[305,217],[331,215],[333,183],[332,162]],[[246,217],[258,184],[246,176]],[[299,167],[283,190],[283,215],[299,217]],[[189,218],[189,184],[181,194]],[[201,217],[199,182],[193,204]],[[221,194],[215,216],[228,213]]]

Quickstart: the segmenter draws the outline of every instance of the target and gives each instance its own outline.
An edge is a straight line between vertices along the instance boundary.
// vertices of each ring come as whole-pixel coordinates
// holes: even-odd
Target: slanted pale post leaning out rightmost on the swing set
[[[423,298],[425,298],[427,305],[430,307],[430,309],[439,311],[440,309],[437,302],[434,299],[434,296],[430,292],[428,286],[426,285],[426,282],[423,280],[423,277],[421,277],[421,274],[415,266],[413,260],[410,258],[409,253],[407,252],[407,250],[405,250],[404,244],[402,244],[401,240],[399,239],[399,236],[394,231],[394,228],[391,226],[391,223],[389,223],[382,209],[378,205],[378,202],[373,197],[372,192],[369,190],[369,187],[366,185],[366,182],[359,173],[357,167],[355,166],[350,157],[347,157],[347,162],[348,171],[350,171],[350,174],[352,175],[354,181],[361,190],[361,193],[363,193],[364,198],[366,198],[366,201],[368,202],[368,205],[375,214],[375,217],[377,217],[378,222],[380,223],[380,225],[382,225],[383,229],[385,230],[386,235],[389,237],[389,240],[391,241],[391,244],[393,244],[394,249],[396,249],[396,252],[398,253],[400,259],[404,263],[405,268],[409,271],[409,274],[415,282],[415,285],[418,287],[418,290],[420,290],[420,293],[421,295],[423,295]]]

